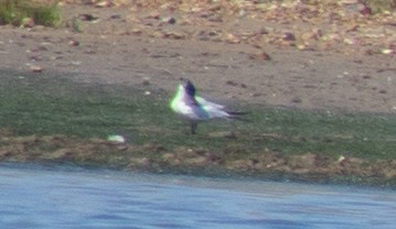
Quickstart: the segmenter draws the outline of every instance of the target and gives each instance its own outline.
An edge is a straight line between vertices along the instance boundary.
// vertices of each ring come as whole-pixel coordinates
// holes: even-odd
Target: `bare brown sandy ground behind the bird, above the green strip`
[[[394,50],[373,54],[370,45],[347,42],[321,48],[320,41],[314,48],[297,48],[288,33],[282,34],[286,45],[270,39],[258,44],[222,29],[261,28],[267,30],[263,36],[271,37],[268,28],[288,24],[233,15],[189,23],[174,10],[133,9],[63,4],[65,24],[57,29],[3,25],[0,67],[38,75],[34,72],[75,73],[78,80],[93,83],[151,84],[170,92],[185,77],[201,95],[217,101],[396,112]],[[387,28],[389,44],[395,26]]]

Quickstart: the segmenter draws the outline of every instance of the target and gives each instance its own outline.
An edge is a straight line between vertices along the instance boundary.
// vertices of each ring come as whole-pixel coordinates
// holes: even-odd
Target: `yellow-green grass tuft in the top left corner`
[[[0,0],[0,24],[20,26],[26,19],[35,24],[55,26],[61,22],[61,12],[54,3],[35,3],[30,0]]]

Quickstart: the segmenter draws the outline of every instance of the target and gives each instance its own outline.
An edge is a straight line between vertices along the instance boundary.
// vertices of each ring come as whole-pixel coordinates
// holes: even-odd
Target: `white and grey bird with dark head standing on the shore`
[[[196,133],[199,122],[211,119],[239,119],[247,112],[226,111],[223,105],[218,105],[196,95],[194,85],[189,79],[181,79],[173,98],[170,101],[171,109],[190,123],[191,134]]]

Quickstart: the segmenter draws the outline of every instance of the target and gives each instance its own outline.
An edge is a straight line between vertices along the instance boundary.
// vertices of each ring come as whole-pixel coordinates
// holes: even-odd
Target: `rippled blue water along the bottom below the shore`
[[[0,166],[0,228],[396,228],[396,193]]]

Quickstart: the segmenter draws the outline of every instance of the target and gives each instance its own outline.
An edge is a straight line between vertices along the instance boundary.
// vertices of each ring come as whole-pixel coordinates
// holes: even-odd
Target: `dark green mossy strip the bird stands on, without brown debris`
[[[74,83],[73,76],[0,73],[0,127],[17,134],[66,134],[131,144],[159,144],[221,152],[246,159],[267,151],[338,157],[396,159],[396,117],[382,113],[308,111],[243,105],[249,121],[199,124],[197,134],[168,108],[170,94],[150,86]],[[150,90],[150,96],[145,91]],[[211,137],[233,130],[236,139]]]

